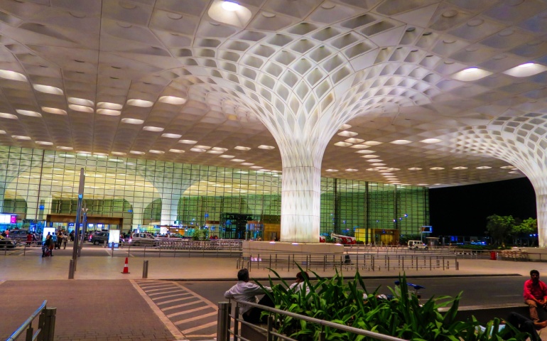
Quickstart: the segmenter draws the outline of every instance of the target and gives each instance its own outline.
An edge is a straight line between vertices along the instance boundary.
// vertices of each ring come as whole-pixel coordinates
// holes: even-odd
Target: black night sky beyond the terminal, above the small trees
[[[489,215],[536,218],[536,194],[528,178],[429,190],[432,236],[484,237]]]

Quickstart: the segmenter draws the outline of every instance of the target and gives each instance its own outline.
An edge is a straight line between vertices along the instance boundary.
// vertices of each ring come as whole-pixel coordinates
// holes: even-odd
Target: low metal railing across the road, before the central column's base
[[[241,256],[237,269],[459,270],[457,256],[442,254],[260,253]],[[298,264],[298,266],[296,266]]]

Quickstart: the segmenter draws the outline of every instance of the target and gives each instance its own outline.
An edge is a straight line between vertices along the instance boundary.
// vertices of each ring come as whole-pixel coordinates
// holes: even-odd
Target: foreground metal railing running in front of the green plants
[[[229,302],[220,302],[218,303],[218,320],[217,320],[217,341],[229,341],[230,335],[233,336],[234,340],[243,340],[243,341],[256,341],[255,339],[249,340],[242,336],[241,330],[243,328],[240,328],[241,326],[249,326],[249,328],[254,328],[255,330],[258,330],[261,332],[261,334],[264,336],[262,340],[272,341],[274,340],[286,340],[286,341],[298,341],[296,339],[293,339],[291,337],[288,337],[287,335],[280,334],[276,332],[275,327],[276,323],[273,320],[273,314],[283,315],[288,318],[294,318],[296,320],[303,320],[306,323],[313,323],[316,325],[320,325],[320,333],[318,341],[324,341],[326,337],[325,328],[335,328],[337,330],[341,330],[343,332],[351,332],[354,335],[363,335],[366,337],[371,337],[374,340],[381,340],[381,341],[405,341],[404,339],[399,339],[398,337],[393,337],[389,335],[380,334],[378,332],[371,332],[369,330],[362,330],[359,328],[350,327],[347,325],[340,325],[339,323],[333,323],[330,321],[325,320],[318,320],[317,318],[310,318],[308,316],[299,315],[296,313],[290,313],[285,310],[279,310],[276,308],[270,308],[266,307],[265,305],[260,305],[256,303],[249,303],[249,302],[240,302],[235,301],[235,312],[234,315],[231,314],[232,311],[232,303]],[[261,325],[254,325],[252,323],[248,323],[247,321],[242,320],[239,318],[239,305],[250,305],[252,307],[260,308],[262,310],[269,311],[268,316],[268,324],[266,325],[266,328],[262,327]],[[231,324],[232,320],[234,321],[234,328],[232,330]]]

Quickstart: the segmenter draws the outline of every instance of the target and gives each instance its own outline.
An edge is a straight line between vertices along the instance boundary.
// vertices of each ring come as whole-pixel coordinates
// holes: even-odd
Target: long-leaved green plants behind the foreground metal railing
[[[332,278],[323,278],[313,273],[317,277],[317,282],[311,283],[306,279],[304,288],[294,292],[288,288],[286,281],[283,281],[276,271],[270,270],[281,284],[274,285],[270,276],[272,291],[268,295],[276,308],[291,313],[330,320],[334,323],[406,340],[516,341],[526,339],[525,334],[518,332],[510,325],[498,332],[499,319],[494,319],[486,325],[486,330],[491,332],[480,330],[475,318],[465,321],[456,320],[461,293],[456,298],[442,296],[430,298],[425,303],[421,303],[415,295],[408,293],[404,275],[399,278],[400,291],[389,288],[395,296],[389,301],[377,298],[379,288],[372,292],[367,291],[358,271],[354,278],[347,282],[343,281],[342,275],[338,272]],[[256,283],[262,286],[261,283]],[[306,293],[306,287],[310,289],[308,293]],[[364,297],[367,298],[366,301]],[[448,311],[440,313],[439,308],[448,305],[450,305]],[[319,339],[320,325],[306,323],[285,315],[276,314],[273,318],[277,321],[276,328],[280,333],[301,341]],[[369,340],[367,337],[342,332],[335,328],[325,328],[324,331],[325,340]]]

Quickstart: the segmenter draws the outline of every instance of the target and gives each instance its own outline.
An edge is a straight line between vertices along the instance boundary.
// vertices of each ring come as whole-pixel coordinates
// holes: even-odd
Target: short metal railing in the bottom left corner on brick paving
[[[53,341],[57,308],[47,308],[47,303],[47,300],[43,301],[42,305],[6,341],[17,340],[23,333],[25,333],[25,341]],[[32,323],[38,315],[40,315],[38,318],[38,328],[35,331]]]

